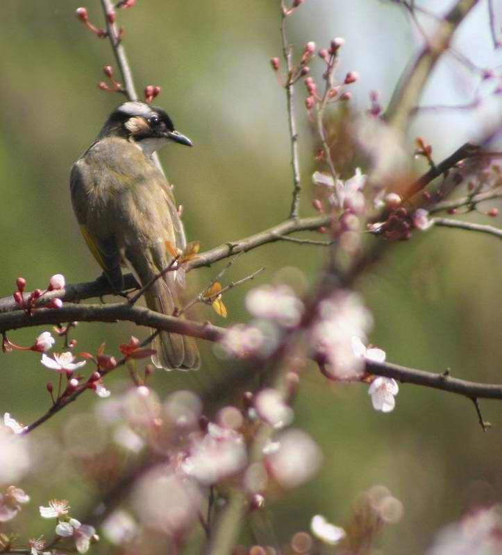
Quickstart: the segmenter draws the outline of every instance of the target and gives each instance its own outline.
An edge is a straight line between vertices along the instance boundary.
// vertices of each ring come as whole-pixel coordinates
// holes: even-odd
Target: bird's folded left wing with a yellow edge
[[[93,232],[92,226],[88,225],[87,211],[90,207],[87,191],[91,185],[90,179],[90,174],[85,164],[76,162],[70,176],[74,211],[89,250],[99,266],[103,268],[103,272],[112,287],[117,289],[117,291],[122,291],[124,286],[124,279],[120,268],[122,257],[115,237],[112,234],[108,236],[107,234],[100,234],[100,237],[98,237]]]

